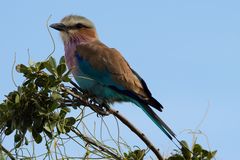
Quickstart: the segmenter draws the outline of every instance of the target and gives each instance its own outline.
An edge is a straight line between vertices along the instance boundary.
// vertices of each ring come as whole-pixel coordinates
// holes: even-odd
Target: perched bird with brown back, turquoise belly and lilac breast
[[[146,82],[121,53],[100,41],[94,23],[86,17],[68,15],[51,28],[60,32],[68,69],[80,86],[100,104],[131,102],[173,141],[176,134],[152,109],[163,106],[153,98]]]

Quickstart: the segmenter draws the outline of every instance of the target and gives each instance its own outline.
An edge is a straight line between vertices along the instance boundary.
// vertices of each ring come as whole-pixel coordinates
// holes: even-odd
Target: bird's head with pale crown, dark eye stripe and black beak
[[[82,16],[66,16],[60,23],[51,24],[50,27],[60,31],[64,44],[84,43],[98,39],[94,24]]]

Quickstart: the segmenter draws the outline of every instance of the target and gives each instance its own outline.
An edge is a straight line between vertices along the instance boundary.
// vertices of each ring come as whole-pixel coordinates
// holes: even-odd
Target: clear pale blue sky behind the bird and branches
[[[14,53],[27,64],[52,51],[46,20],[58,22],[69,14],[91,19],[100,39],[117,48],[165,106],[159,115],[176,133],[200,130],[207,135],[217,159],[235,159],[240,140],[240,2],[221,0],[170,1],[3,1],[0,5],[0,99],[15,89],[11,80]],[[53,31],[54,57],[63,55],[60,36]],[[18,84],[21,75],[14,73]],[[132,104],[114,105],[145,132],[162,152],[174,145]],[[133,114],[134,113],[134,114]],[[144,124],[144,125],[143,125]],[[131,142],[129,131],[123,131]],[[191,135],[180,139],[191,142]],[[136,138],[136,143],[139,142]],[[133,141],[134,145],[135,141]],[[207,146],[203,136],[199,143]]]

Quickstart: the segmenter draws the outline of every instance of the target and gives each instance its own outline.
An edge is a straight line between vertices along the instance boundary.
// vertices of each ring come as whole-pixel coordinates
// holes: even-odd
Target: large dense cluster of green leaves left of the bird
[[[47,74],[44,70],[49,71]],[[65,117],[70,110],[62,102],[59,84],[69,82],[64,58],[58,65],[52,57],[47,61],[32,66],[17,65],[16,70],[23,73],[26,81],[16,91],[10,92],[6,100],[0,104],[0,127],[6,135],[15,132],[16,147],[23,142],[27,131],[31,131],[36,143],[42,142],[41,133],[45,132],[52,138],[54,127],[58,133],[67,133],[75,123],[73,117]],[[60,112],[56,112],[60,109]]]

